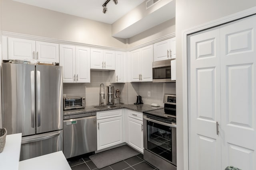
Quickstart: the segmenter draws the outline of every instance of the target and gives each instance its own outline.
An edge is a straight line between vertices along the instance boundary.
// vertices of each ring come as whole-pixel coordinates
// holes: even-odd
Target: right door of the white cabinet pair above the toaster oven
[[[76,47],[76,82],[90,83],[90,48]]]

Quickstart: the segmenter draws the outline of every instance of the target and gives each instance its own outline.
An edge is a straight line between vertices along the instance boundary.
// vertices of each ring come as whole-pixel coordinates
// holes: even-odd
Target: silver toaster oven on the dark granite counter
[[[81,109],[85,107],[84,97],[63,98],[63,109]]]

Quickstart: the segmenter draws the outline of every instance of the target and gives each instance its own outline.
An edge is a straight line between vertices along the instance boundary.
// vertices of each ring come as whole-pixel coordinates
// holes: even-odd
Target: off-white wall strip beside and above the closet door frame
[[[177,169],[183,166],[182,31],[256,6],[256,0],[176,1]],[[186,168],[186,167],[185,167]]]

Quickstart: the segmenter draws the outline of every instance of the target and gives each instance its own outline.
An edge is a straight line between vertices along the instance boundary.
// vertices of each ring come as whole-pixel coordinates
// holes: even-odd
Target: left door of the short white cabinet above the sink
[[[103,50],[91,49],[91,67],[93,69],[104,69]]]

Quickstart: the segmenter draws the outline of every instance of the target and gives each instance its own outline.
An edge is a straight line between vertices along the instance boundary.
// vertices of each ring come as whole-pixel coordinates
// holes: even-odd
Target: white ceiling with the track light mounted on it
[[[115,5],[112,0],[108,2],[108,11],[102,12],[102,5],[106,0],[14,0],[32,6],[62,12],[90,20],[112,24],[130,10],[136,8],[144,0],[118,0]]]

